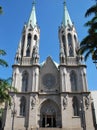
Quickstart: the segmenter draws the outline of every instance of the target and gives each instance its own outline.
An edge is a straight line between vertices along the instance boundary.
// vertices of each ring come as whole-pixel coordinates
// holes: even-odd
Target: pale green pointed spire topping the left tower
[[[36,2],[35,2],[35,0],[33,0],[33,7],[32,7],[29,21],[28,21],[28,25],[32,25],[32,27],[35,27],[37,25],[35,4],[36,4]]]

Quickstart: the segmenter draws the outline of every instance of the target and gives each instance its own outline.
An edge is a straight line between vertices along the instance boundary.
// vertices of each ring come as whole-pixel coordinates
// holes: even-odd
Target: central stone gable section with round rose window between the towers
[[[55,62],[48,57],[40,68],[40,90],[56,91],[59,89],[59,70]]]

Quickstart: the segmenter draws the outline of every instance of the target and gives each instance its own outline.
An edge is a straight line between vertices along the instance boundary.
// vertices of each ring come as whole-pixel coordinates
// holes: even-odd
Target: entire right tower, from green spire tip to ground
[[[86,78],[86,65],[83,57],[78,54],[78,36],[70,18],[66,1],[64,1],[63,5],[63,19],[58,31],[60,44],[60,93],[61,104],[63,103],[64,107],[64,110],[61,109],[62,128],[70,129],[72,127],[74,130],[90,130],[93,129],[93,124],[89,124],[88,120],[89,116],[92,120],[92,113],[90,106],[91,96],[88,91]],[[86,113],[89,116],[86,116]],[[72,117],[72,126],[67,121],[67,118],[70,119],[70,117]],[[79,122],[79,119],[80,123],[76,124],[76,122]]]

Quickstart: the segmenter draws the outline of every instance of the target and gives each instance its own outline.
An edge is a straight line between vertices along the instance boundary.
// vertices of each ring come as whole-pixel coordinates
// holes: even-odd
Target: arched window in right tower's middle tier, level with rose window
[[[70,73],[70,82],[71,82],[71,90],[77,91],[77,76],[75,71],[71,71]]]

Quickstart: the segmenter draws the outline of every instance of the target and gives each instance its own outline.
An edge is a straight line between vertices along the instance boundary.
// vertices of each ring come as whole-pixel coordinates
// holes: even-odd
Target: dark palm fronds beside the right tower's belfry
[[[97,3],[90,7],[85,17],[93,15],[91,20],[85,23],[85,27],[88,27],[88,35],[80,43],[80,54],[85,54],[85,60],[92,55],[92,60],[97,60]]]

